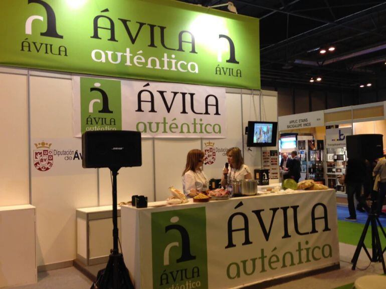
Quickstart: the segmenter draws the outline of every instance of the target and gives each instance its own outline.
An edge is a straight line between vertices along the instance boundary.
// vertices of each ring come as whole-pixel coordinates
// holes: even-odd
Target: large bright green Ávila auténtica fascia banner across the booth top
[[[171,0],[0,3],[0,64],[260,89],[259,20]]]

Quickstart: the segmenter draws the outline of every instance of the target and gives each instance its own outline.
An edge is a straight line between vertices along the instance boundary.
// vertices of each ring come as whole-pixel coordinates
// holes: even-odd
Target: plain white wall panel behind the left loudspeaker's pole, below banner
[[[117,175],[117,199],[131,200],[134,194],[147,196],[148,201],[154,201],[153,182],[153,139],[142,138],[142,166],[122,167]],[[112,204],[112,187],[110,170],[99,169],[99,205]]]

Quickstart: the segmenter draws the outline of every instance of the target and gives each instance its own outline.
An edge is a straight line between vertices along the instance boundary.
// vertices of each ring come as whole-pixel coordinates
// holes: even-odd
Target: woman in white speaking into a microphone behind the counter
[[[231,147],[227,150],[229,168],[224,166],[221,185],[226,187],[232,180],[252,179],[251,170],[244,164],[241,150],[238,147]],[[225,178],[227,176],[227,178]]]

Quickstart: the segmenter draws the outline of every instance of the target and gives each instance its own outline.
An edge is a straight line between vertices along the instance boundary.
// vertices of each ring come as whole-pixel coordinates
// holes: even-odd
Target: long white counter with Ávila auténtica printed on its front
[[[121,224],[136,288],[237,288],[339,264],[333,189],[122,206]]]

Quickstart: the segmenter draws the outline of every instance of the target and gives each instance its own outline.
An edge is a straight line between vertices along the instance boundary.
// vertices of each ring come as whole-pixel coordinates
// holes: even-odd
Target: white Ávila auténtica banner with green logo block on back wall
[[[73,76],[73,128],[142,137],[227,136],[225,88]]]

